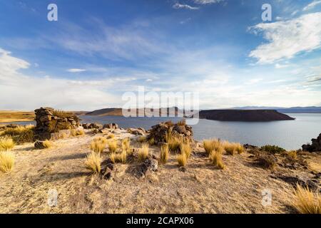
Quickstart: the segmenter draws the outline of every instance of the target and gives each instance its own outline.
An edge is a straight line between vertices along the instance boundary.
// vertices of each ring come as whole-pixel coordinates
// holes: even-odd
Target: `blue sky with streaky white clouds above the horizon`
[[[0,110],[122,107],[141,86],[201,109],[321,106],[321,1],[0,0]]]

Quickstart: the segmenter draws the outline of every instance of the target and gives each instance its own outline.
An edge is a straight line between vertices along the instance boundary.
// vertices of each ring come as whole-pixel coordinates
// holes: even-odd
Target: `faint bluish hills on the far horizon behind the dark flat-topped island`
[[[236,110],[277,110],[280,113],[321,113],[321,107],[316,106],[308,106],[308,107],[292,107],[292,108],[284,108],[284,107],[265,107],[265,106],[245,106],[245,107],[237,107],[232,108]]]

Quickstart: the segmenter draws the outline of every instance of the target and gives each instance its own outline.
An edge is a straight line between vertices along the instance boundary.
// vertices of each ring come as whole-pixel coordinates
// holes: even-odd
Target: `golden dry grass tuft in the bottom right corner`
[[[301,214],[321,214],[321,195],[297,185],[292,206]]]

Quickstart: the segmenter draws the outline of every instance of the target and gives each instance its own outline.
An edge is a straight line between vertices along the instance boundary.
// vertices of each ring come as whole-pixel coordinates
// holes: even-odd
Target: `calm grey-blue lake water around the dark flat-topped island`
[[[272,122],[220,122],[200,120],[193,125],[194,138],[221,138],[252,145],[279,145],[287,150],[299,149],[321,133],[321,114],[288,114],[296,120]],[[149,129],[161,121],[178,121],[180,118],[124,118],[118,116],[82,115],[83,123],[117,123],[121,128]],[[29,122],[30,123],[30,122]],[[22,123],[26,124],[26,123]]]

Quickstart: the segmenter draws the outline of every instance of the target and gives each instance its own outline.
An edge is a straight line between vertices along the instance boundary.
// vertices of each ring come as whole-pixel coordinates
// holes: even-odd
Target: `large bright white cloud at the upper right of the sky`
[[[263,33],[269,43],[250,52],[258,63],[273,63],[293,58],[297,53],[313,51],[321,46],[321,13],[305,14],[297,19],[257,24],[250,27],[255,34]]]

